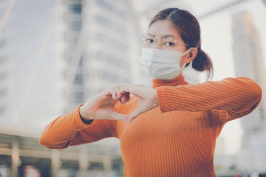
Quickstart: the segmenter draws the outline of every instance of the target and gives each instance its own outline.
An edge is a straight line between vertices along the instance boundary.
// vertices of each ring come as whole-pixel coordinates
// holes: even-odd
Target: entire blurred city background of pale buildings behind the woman
[[[138,63],[140,35],[169,7],[198,18],[213,80],[250,77],[265,92],[265,0],[0,0],[1,177],[124,176],[116,138],[64,150],[38,140],[49,122],[112,84],[151,85]],[[192,68],[183,75],[206,80]],[[265,111],[264,94],[253,113],[226,123],[217,176],[266,176]]]

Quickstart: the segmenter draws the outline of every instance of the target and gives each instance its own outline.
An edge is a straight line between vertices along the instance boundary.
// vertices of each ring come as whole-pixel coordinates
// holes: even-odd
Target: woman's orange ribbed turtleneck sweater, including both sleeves
[[[180,75],[172,80],[153,79],[159,107],[131,123],[120,120],[82,121],[79,105],[57,117],[43,131],[40,143],[48,148],[120,139],[125,176],[215,176],[215,140],[223,125],[252,112],[261,100],[260,86],[245,77],[187,84]],[[129,115],[138,105],[115,105]],[[233,132],[232,132],[233,133]]]

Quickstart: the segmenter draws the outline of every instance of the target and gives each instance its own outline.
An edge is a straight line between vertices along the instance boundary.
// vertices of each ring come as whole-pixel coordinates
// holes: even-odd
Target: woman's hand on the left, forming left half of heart
[[[80,114],[85,120],[91,119],[112,119],[124,120],[128,122],[128,116],[117,113],[113,107],[120,101],[124,104],[129,101],[129,95],[124,94],[121,99],[117,99],[117,92],[120,90],[119,85],[111,86],[108,90],[103,91],[80,107]]]

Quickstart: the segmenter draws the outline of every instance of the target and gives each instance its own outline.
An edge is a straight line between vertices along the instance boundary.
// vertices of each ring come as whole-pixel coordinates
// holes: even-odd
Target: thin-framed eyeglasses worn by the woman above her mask
[[[141,35],[141,43],[144,48],[154,48],[157,42],[160,42],[159,45],[164,51],[171,51],[176,45],[185,45],[190,47],[186,43],[175,40],[172,36],[158,37],[150,33],[143,33]]]

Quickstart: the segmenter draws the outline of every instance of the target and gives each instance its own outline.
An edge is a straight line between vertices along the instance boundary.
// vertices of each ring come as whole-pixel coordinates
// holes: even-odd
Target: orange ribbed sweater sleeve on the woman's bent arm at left
[[[79,105],[70,113],[56,118],[43,130],[39,143],[53,149],[79,145],[114,136],[115,120],[94,120],[86,124],[80,116]]]

